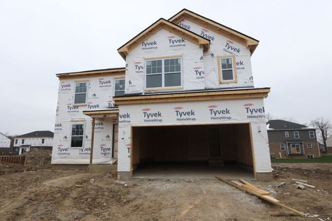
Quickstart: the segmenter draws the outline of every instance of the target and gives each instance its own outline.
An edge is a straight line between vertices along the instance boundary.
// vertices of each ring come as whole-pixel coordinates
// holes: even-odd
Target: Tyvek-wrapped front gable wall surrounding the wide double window
[[[149,43],[154,46],[147,45]],[[183,86],[176,90],[205,88],[203,48],[172,32],[160,30],[127,55],[125,93],[145,92],[145,59],[167,56],[179,56],[182,59]]]

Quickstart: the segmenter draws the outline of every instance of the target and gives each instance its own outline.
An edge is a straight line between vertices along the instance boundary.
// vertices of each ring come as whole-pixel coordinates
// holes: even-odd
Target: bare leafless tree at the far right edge
[[[311,122],[311,126],[317,128],[319,137],[318,140],[322,142],[324,145],[324,148],[326,150],[326,153],[329,153],[329,150],[326,146],[326,140],[327,138],[332,135],[332,125],[329,119],[325,119],[324,117],[316,118]]]

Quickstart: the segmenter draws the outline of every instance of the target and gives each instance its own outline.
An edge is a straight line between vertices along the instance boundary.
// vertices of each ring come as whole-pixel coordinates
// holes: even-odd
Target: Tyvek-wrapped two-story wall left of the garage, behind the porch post
[[[117,75],[60,79],[52,164],[89,164],[92,119],[82,111],[113,106],[114,81],[123,78]],[[74,104],[76,81],[88,81],[86,105]],[[84,124],[83,147],[71,148],[71,126],[81,123]],[[93,162],[96,164],[108,164],[112,160],[113,123],[110,119],[95,119]]]

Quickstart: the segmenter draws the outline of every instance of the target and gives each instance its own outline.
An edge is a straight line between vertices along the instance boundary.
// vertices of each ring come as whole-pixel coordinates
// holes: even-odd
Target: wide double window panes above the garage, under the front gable
[[[181,86],[181,58],[146,61],[146,88]]]

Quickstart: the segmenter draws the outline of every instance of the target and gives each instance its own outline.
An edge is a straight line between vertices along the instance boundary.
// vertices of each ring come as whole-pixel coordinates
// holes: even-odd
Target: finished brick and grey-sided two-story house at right
[[[316,129],[302,124],[273,119],[268,126],[270,155],[275,158],[320,157]]]

